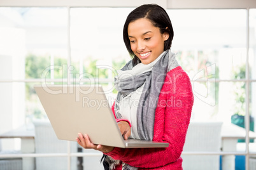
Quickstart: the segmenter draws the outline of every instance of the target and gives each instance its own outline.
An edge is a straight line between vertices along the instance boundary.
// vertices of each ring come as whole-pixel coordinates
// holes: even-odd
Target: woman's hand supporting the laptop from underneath
[[[104,146],[104,145],[94,145],[87,134],[78,133],[76,138],[77,143],[83,148],[92,148],[94,150],[99,150],[104,153],[111,152],[114,147]]]

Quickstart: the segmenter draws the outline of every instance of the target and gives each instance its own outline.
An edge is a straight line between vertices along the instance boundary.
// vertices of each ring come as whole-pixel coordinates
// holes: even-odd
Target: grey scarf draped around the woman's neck
[[[143,72],[142,74],[132,75],[125,79],[115,80],[115,86],[118,91],[115,101],[117,119],[122,119],[122,113],[120,113],[118,105],[120,96],[129,95],[129,93],[136,91],[136,89],[145,84],[137,109],[137,129],[141,140],[153,140],[155,108],[157,108],[159,93],[166,78],[168,60],[169,51],[164,51],[159,61],[153,65],[152,70]],[[131,70],[132,68],[132,62],[130,61],[121,70]]]

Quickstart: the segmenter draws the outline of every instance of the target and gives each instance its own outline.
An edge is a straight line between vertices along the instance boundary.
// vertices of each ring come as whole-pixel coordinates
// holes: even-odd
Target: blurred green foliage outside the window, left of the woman
[[[83,69],[82,73],[80,72],[79,66],[80,62],[72,62],[71,67],[68,68],[67,60],[64,58],[59,58],[56,56],[52,56],[54,58],[53,65],[54,67],[51,67],[51,56],[45,55],[45,56],[38,56],[34,54],[29,54],[25,58],[25,78],[26,79],[41,79],[42,77],[45,79],[62,79],[63,81],[60,82],[54,82],[54,84],[62,84],[65,83],[67,79],[68,69],[70,70],[70,73],[72,80],[74,78],[79,78],[81,74],[87,75],[94,78],[99,79],[108,79],[108,69],[99,69],[97,68],[97,59],[94,59],[92,57],[87,57],[86,60],[83,61]],[[120,61],[113,61],[112,66],[113,70],[120,69],[125,65],[125,60]],[[51,70],[52,69],[52,70]],[[51,77],[51,72],[54,72],[53,77]],[[45,74],[45,75],[43,75]],[[115,73],[111,74],[111,79],[114,80]],[[88,77],[83,77],[84,79]],[[41,81],[41,80],[39,80]],[[50,83],[50,82],[48,82]],[[80,82],[71,82],[71,83],[80,83]],[[38,83],[37,83],[38,84]],[[101,83],[103,86],[104,84],[108,83]],[[27,117],[34,117],[36,119],[44,119],[46,117],[45,114],[43,114],[43,110],[39,109],[40,103],[36,103],[36,92],[34,91],[34,83],[26,83],[25,85],[25,96],[26,96],[26,114]],[[117,91],[114,89],[113,93],[117,93]]]

